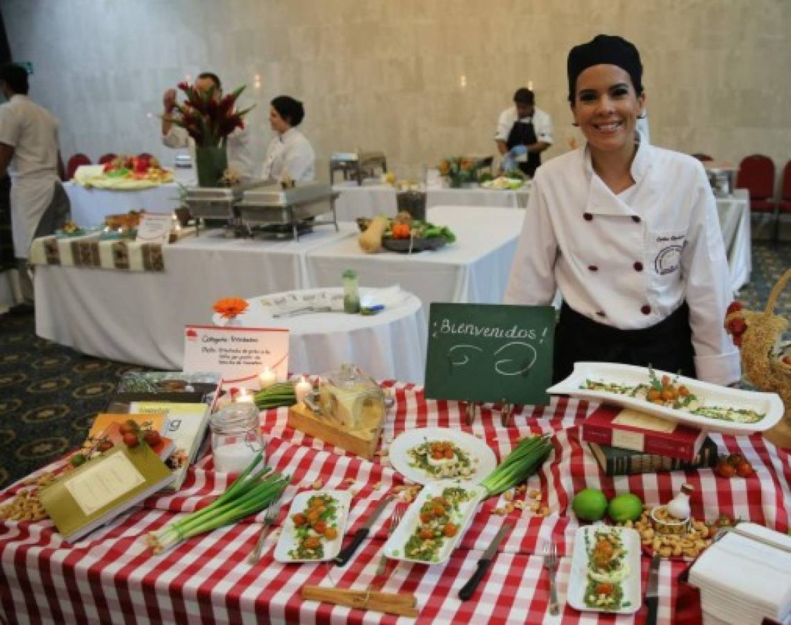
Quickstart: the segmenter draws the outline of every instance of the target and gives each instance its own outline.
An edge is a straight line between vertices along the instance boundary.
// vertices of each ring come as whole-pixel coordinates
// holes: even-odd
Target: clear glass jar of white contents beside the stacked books
[[[214,468],[224,473],[240,473],[255,454],[263,451],[259,411],[255,403],[230,403],[212,415],[211,453]],[[263,458],[262,462],[266,458]]]

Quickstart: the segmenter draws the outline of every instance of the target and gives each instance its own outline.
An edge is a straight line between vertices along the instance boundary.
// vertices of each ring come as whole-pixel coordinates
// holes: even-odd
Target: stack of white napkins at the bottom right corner
[[[700,589],[703,622],[791,623],[791,536],[755,523],[737,528],[747,536],[727,533],[690,570],[690,583]]]

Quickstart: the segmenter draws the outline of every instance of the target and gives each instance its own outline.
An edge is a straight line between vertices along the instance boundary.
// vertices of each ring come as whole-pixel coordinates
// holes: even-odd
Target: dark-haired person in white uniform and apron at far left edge
[[[11,177],[11,231],[25,312],[33,301],[28,252],[35,237],[55,233],[70,217],[60,184],[63,161],[58,120],[28,98],[28,72],[15,63],[0,68],[0,88],[8,102],[0,106],[0,177]]]

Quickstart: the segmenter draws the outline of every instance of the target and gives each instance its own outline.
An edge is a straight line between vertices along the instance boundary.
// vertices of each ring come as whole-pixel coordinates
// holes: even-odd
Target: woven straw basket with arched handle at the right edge
[[[786,270],[772,288],[763,312],[739,310],[725,317],[726,325],[737,318],[744,319],[747,324],[741,337],[741,362],[747,379],[757,388],[777,392],[787,413],[791,409],[791,365],[782,361],[786,355],[782,334],[789,322],[774,314],[774,305],[789,280],[791,269]]]

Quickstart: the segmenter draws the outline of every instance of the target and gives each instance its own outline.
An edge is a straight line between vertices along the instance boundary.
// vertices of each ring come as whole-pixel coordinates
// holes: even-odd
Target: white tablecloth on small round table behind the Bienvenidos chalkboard
[[[343,312],[310,312],[273,317],[263,301],[278,297],[332,294],[340,288],[308,289],[253,297],[250,308],[237,317],[247,328],[289,328],[289,369],[294,373],[319,375],[337,369],[341,362],[354,362],[379,380],[423,383],[426,372],[426,317],[417,297],[404,293],[403,301],[376,315],[346,315]],[[361,289],[360,294],[370,292]],[[218,324],[218,315],[213,321]]]

